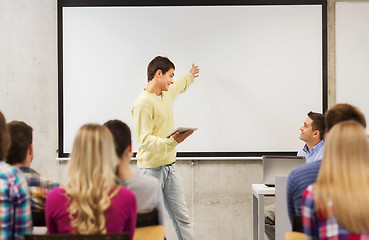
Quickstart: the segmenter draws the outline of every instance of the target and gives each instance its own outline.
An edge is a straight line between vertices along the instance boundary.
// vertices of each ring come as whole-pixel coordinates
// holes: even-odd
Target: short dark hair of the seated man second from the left
[[[28,148],[32,144],[33,129],[21,121],[11,121],[8,123],[8,129],[12,144],[6,161],[10,165],[23,163],[26,160]]]

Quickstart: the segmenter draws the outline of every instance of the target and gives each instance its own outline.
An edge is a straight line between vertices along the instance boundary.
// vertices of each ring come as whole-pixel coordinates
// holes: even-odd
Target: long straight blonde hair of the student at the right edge
[[[369,233],[369,142],[358,122],[338,123],[329,131],[314,200],[318,214],[335,215],[351,233]]]

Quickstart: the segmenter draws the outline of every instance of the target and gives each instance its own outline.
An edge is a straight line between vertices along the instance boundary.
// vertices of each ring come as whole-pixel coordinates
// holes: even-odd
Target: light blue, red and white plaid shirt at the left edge
[[[19,169],[0,162],[0,239],[23,239],[32,232],[26,179]]]

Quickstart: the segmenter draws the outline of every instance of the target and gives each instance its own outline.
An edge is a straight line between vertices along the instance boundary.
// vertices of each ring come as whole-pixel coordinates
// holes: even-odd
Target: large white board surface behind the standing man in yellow
[[[61,17],[59,154],[87,122],[133,130],[131,106],[158,55],[175,76],[200,67],[173,105],[175,127],[198,128],[178,152],[297,151],[306,114],[323,111],[322,5],[80,6]]]

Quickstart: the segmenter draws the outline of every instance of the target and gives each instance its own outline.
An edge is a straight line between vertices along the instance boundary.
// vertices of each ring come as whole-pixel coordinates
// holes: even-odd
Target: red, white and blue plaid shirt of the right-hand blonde
[[[314,185],[309,185],[302,195],[302,224],[306,239],[343,239],[343,240],[368,240],[369,235],[353,234],[340,227],[334,217],[332,202],[328,202],[333,217],[327,218],[316,212],[314,202]]]

